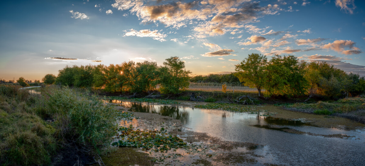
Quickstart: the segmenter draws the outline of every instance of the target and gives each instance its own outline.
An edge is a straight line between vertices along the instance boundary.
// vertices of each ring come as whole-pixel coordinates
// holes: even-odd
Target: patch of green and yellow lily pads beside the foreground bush
[[[171,148],[185,147],[185,143],[182,139],[177,136],[166,136],[165,130],[134,130],[132,125],[130,127],[120,127],[119,137],[122,140],[112,143],[112,146],[127,146],[127,147],[141,147],[142,150],[149,150],[154,148],[155,151],[166,152]]]

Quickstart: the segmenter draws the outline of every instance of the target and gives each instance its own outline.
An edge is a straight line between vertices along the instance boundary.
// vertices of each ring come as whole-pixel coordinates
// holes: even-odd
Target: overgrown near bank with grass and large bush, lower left
[[[41,94],[19,88],[0,85],[1,165],[50,165],[69,143],[97,150],[115,135],[118,114],[96,96],[55,86]]]

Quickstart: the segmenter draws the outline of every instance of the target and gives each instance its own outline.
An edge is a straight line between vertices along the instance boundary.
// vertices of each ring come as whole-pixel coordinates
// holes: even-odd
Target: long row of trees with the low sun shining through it
[[[185,63],[178,57],[165,59],[164,66],[156,62],[123,62],[122,64],[66,66],[58,76],[47,74],[46,84],[74,87],[104,88],[107,92],[151,92],[160,85],[164,94],[176,94],[189,87],[189,74]]]

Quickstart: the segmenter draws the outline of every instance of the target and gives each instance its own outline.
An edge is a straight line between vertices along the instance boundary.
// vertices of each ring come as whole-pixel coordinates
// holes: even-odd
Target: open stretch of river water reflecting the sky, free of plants
[[[159,113],[182,121],[187,130],[204,132],[223,140],[251,142],[265,146],[255,150],[258,163],[284,165],[364,165],[365,131],[320,128],[301,121],[283,120],[221,110],[198,109],[179,105],[161,105],[111,101],[134,112]],[[254,125],[287,127],[313,134],[346,134],[348,139],[326,138],[308,134],[292,134]]]

